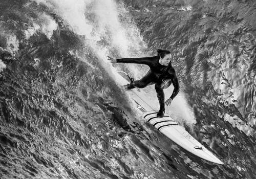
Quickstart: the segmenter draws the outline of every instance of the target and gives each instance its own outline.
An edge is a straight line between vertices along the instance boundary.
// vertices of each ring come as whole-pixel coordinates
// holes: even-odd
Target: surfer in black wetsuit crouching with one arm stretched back
[[[143,58],[115,59],[108,56],[108,60],[110,60],[112,63],[137,63],[150,66],[150,70],[148,70],[144,77],[142,77],[140,80],[132,81],[130,84],[127,84],[126,88],[144,88],[148,85],[155,84],[157,98],[160,104],[160,110],[158,111],[157,117],[163,117],[165,113],[164,104],[167,106],[170,105],[170,103],[172,103],[173,99],[179,93],[180,88],[176,72],[172,66],[172,62],[170,62],[170,59],[172,58],[170,51],[158,49],[157,53],[157,56]],[[173,94],[164,103],[163,89],[169,87],[172,83],[174,85]]]

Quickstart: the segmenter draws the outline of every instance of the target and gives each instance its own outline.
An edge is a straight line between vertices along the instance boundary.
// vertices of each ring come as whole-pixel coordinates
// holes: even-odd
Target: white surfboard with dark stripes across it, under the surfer
[[[129,83],[119,74],[116,76],[116,79],[120,85]],[[167,138],[204,160],[223,165],[223,162],[168,115],[165,114],[163,118],[156,117],[159,110],[156,108],[158,101],[151,101],[145,92],[138,91],[136,88],[129,89],[126,92],[129,97],[134,100],[136,108],[141,116],[162,132]]]

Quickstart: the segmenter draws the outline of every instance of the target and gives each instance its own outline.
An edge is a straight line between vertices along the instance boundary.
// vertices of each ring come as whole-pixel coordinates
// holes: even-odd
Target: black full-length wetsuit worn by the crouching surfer
[[[164,92],[161,84],[163,80],[169,81],[167,87],[173,83],[174,91],[170,98],[174,99],[175,96],[179,93],[179,81],[176,75],[176,72],[172,66],[169,64],[168,66],[161,65],[159,63],[159,56],[154,57],[144,57],[144,58],[120,58],[117,59],[117,63],[137,63],[137,64],[146,64],[150,66],[150,70],[147,74],[142,77],[142,79],[133,81],[129,84],[129,88],[143,88],[151,84],[155,84],[157,97],[160,103],[160,110],[164,110]],[[168,80],[170,79],[170,80]]]

